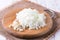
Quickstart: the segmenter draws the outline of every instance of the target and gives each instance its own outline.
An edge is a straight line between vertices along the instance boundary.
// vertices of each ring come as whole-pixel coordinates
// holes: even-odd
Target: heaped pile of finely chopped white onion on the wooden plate
[[[46,25],[45,19],[44,13],[40,13],[36,9],[26,8],[16,14],[16,19],[10,26],[19,31],[23,31],[26,28],[38,30]]]

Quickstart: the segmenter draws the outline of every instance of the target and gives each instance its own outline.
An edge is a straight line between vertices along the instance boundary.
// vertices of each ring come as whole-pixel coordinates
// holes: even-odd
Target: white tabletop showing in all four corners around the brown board
[[[0,0],[0,10],[10,6],[11,4],[20,0]],[[31,0],[47,8],[60,12],[60,0]],[[3,36],[0,36],[0,40],[5,40]],[[49,40],[60,40],[60,30],[56,32],[55,37],[51,37]]]

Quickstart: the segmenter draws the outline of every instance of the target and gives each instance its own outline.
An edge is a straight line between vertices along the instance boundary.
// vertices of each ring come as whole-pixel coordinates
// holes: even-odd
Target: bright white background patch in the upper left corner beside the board
[[[0,10],[3,10],[4,8],[6,8],[18,1],[20,1],[20,0],[0,0]]]

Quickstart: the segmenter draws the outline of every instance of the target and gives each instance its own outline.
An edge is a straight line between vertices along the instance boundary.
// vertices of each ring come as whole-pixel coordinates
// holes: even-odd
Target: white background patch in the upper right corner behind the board
[[[30,0],[54,11],[60,12],[60,0]]]

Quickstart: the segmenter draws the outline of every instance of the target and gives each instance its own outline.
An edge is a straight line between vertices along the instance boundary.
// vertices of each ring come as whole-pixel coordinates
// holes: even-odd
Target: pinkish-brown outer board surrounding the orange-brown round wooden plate
[[[40,5],[38,5],[38,4],[34,4],[34,3],[32,3],[32,2],[29,2],[29,1],[21,1],[21,2],[17,2],[16,4],[13,4],[12,6],[10,6],[10,7],[8,7],[8,8],[6,8],[6,9],[4,9],[4,10],[2,10],[1,12],[0,12],[0,34],[2,34],[2,35],[4,35],[6,38],[7,38],[7,40],[9,39],[9,40],[22,40],[22,39],[20,39],[20,38],[16,38],[16,37],[14,37],[14,36],[12,36],[12,35],[10,35],[10,34],[8,34],[3,28],[2,28],[2,18],[3,18],[3,16],[4,16],[4,14],[6,14],[7,13],[7,10],[9,10],[9,9],[11,9],[11,8],[13,8],[13,6],[20,6],[21,7],[21,5],[24,5],[24,6],[26,6],[26,4],[33,4],[33,5],[35,5],[35,7],[36,6],[39,6],[39,8],[41,8],[41,10],[46,10],[46,12],[48,12],[48,13],[51,13],[51,12],[49,12],[49,10],[50,9],[47,9],[47,8],[45,8],[45,7],[42,7],[42,6],[40,6]],[[53,17],[53,21],[54,21],[54,31],[52,31],[53,33],[51,33],[51,34],[49,34],[49,35],[47,35],[47,36],[45,36],[45,37],[38,37],[38,38],[35,38],[34,40],[43,40],[43,39],[45,39],[45,40],[48,40],[52,35],[54,35],[54,33],[60,28],[60,22],[59,22],[59,20],[60,20],[60,13],[58,13],[58,12],[55,12],[54,11],[54,13],[55,13],[55,16]],[[56,17],[56,18],[55,18]],[[56,26],[56,27],[55,27]],[[26,39],[27,40],[27,39]]]

